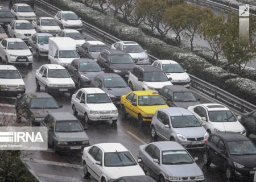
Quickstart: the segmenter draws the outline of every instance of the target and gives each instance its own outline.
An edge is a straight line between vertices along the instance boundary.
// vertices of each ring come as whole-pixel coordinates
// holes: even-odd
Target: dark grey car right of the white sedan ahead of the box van
[[[69,75],[77,88],[90,87],[93,78],[104,73],[96,61],[92,59],[74,59],[68,67]]]

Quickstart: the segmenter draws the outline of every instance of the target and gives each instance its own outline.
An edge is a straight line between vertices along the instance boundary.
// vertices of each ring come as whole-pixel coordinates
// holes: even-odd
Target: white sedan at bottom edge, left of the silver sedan
[[[99,182],[121,176],[145,175],[133,155],[121,143],[98,143],[85,147],[82,165],[85,177],[92,175]]]

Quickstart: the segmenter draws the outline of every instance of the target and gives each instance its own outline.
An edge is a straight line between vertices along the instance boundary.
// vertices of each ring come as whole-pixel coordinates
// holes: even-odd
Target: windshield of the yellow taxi
[[[138,97],[139,106],[154,106],[154,105],[166,105],[163,98],[159,95],[156,96],[139,96]]]

